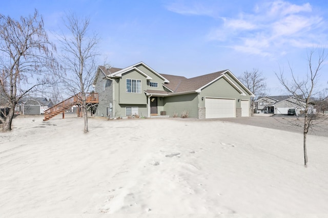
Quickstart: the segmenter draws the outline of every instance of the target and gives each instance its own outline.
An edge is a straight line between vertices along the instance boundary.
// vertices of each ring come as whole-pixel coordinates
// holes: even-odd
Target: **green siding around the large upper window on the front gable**
[[[141,80],[141,93],[127,93],[127,79]],[[147,79],[144,75],[132,70],[122,75],[119,88],[120,104],[147,104],[145,98],[145,90],[147,90]]]

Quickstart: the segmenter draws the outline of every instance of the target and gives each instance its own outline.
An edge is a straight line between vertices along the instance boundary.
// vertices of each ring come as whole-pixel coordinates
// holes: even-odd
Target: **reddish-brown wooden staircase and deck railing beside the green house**
[[[74,105],[81,105],[82,104],[82,95],[78,93],[56,105],[50,107],[48,110],[45,111],[45,118],[44,121],[50,120],[51,118],[55,117],[58,114],[63,113],[63,118],[65,111],[69,110]],[[87,104],[96,104],[99,102],[98,93],[86,93],[86,102]]]

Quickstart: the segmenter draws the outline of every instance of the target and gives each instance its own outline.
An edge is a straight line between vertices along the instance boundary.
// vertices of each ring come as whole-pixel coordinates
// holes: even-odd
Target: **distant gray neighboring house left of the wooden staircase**
[[[42,115],[52,106],[51,99],[27,97],[17,103],[15,112],[23,115]]]

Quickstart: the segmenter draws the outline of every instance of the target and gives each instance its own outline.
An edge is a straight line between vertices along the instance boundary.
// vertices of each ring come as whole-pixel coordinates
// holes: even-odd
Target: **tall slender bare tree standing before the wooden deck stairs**
[[[98,55],[99,42],[96,33],[89,34],[90,18],[79,18],[68,14],[65,26],[68,33],[58,38],[61,43],[60,62],[65,66],[63,79],[67,90],[79,96],[84,115],[84,132],[88,133],[88,105],[86,94],[89,92],[96,73],[95,57]]]

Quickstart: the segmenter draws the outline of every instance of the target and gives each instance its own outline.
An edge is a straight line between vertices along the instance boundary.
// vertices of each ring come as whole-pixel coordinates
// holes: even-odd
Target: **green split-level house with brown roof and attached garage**
[[[253,93],[229,70],[187,79],[159,74],[143,62],[130,67],[99,66],[96,116],[111,118],[156,115],[190,118],[249,117]]]

